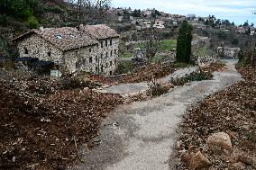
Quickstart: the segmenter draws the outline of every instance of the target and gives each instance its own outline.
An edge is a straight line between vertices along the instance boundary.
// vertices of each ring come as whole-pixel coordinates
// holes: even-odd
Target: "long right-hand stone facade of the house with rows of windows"
[[[110,40],[112,45],[110,46]],[[103,48],[101,47],[103,42]],[[64,53],[65,65],[71,72],[83,70],[94,74],[111,76],[114,74],[118,62],[118,43],[119,40],[100,40],[99,44],[87,48],[70,50]]]

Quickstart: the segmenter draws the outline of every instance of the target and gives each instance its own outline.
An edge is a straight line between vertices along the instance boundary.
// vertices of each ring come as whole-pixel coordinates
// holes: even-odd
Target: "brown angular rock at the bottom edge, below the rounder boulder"
[[[211,162],[209,161],[209,159],[205,157],[200,151],[198,151],[196,154],[189,154],[189,156],[187,156],[187,159],[189,169],[191,170],[211,166]]]

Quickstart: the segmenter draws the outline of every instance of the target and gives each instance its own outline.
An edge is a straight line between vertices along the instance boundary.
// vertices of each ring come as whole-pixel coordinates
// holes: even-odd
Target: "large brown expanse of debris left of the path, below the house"
[[[0,169],[65,169],[79,160],[79,146],[97,135],[107,113],[123,103],[116,94],[52,84],[1,81]]]

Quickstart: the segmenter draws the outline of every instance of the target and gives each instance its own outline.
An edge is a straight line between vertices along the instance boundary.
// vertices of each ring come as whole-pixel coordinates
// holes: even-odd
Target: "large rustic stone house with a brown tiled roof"
[[[28,31],[14,41],[20,58],[52,61],[52,70],[109,76],[113,75],[117,64],[119,35],[103,24],[41,28]]]

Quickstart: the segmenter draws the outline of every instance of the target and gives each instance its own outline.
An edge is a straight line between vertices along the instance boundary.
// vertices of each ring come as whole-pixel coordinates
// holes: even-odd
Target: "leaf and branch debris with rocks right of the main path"
[[[213,94],[187,112],[177,144],[177,169],[256,168],[256,69],[245,81]]]

